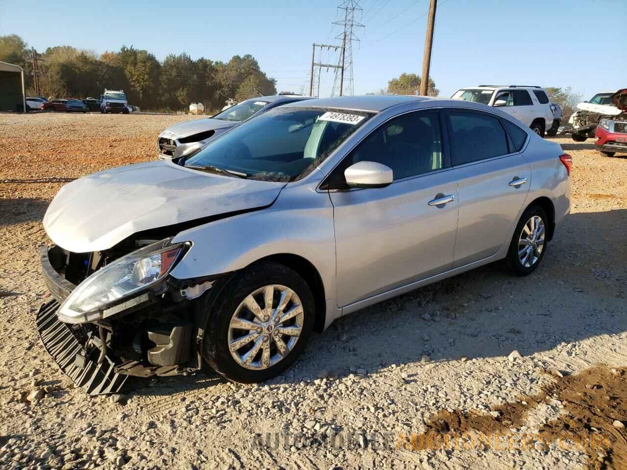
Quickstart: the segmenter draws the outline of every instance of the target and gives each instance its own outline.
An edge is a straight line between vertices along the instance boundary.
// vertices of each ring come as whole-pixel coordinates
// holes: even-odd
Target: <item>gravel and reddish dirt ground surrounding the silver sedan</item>
[[[0,115],[0,467],[627,467],[627,156],[591,140],[554,139],[572,214],[532,276],[495,263],[342,318],[265,384],[76,389],[34,325],[45,209],[70,179],[154,158],[188,118]]]

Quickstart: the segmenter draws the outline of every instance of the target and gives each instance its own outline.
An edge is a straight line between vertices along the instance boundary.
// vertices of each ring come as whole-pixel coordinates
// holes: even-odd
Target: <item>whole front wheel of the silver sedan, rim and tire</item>
[[[208,298],[201,302],[208,308]],[[251,384],[280,375],[303,352],[314,296],[293,269],[263,263],[229,281],[206,313],[204,360],[226,379]]]

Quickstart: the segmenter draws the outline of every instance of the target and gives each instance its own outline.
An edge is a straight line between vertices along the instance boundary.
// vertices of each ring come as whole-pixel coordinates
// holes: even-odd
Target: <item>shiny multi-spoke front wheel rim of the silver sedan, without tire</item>
[[[240,302],[229,322],[231,357],[251,370],[272,367],[298,342],[304,318],[302,303],[292,289],[268,285],[253,291]]]

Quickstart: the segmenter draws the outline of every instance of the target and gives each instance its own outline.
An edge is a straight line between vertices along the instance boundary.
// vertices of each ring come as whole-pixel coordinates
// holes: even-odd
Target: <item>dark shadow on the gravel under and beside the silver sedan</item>
[[[418,363],[422,355],[440,362],[507,357],[512,350],[526,356],[627,331],[626,226],[624,209],[572,214],[530,276],[513,276],[499,261],[347,315],[315,334],[303,357],[268,383],[316,379],[322,371],[371,374]],[[172,395],[223,382],[201,372],[138,380],[129,393],[163,396],[155,406],[169,407],[178,400]]]

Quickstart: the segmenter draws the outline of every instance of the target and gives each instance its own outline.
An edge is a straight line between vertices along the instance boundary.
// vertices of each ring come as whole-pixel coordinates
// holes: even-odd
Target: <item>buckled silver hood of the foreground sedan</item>
[[[43,226],[61,248],[75,253],[100,251],[140,231],[269,206],[284,185],[157,160],[66,184],[48,207]]]

